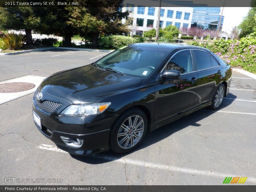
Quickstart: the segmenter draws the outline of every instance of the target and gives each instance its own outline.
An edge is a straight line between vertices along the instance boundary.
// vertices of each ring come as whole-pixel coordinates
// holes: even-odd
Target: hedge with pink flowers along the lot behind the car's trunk
[[[244,37],[240,41],[220,39],[215,40],[214,43],[193,41],[190,44],[210,49],[233,67],[241,67],[256,73],[256,38],[254,36]]]

